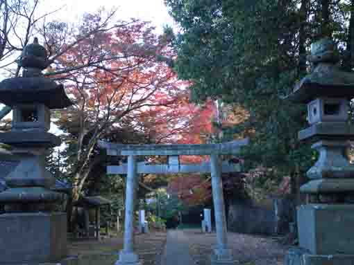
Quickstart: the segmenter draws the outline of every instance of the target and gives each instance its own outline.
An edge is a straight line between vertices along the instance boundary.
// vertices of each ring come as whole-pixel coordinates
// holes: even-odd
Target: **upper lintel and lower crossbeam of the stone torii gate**
[[[240,147],[247,145],[248,139],[234,140],[228,143],[206,145],[119,145],[99,142],[99,147],[107,149],[108,156],[168,156],[168,163],[149,165],[146,162],[137,163],[137,174],[174,174],[174,173],[210,173],[210,162],[199,164],[180,164],[180,155],[216,155],[237,154]],[[240,172],[239,163],[221,163],[221,172]],[[128,164],[108,165],[108,174],[127,174]]]

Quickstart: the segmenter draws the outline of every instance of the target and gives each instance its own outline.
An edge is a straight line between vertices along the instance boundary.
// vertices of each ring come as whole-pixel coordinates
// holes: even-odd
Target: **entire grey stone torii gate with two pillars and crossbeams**
[[[212,253],[212,264],[233,264],[233,255],[228,248],[226,214],[221,173],[239,172],[239,164],[221,161],[220,155],[235,155],[240,147],[247,145],[248,139],[235,140],[228,143],[205,145],[119,145],[99,142],[99,147],[107,149],[108,156],[128,156],[128,163],[109,165],[108,174],[127,174],[126,209],[124,223],[124,248],[119,253],[116,265],[141,265],[139,257],[133,250],[133,211],[134,190],[137,174],[172,174],[172,173],[211,173],[212,198],[214,202],[215,226],[217,230],[217,247]],[[210,162],[183,165],[180,155],[210,156]],[[149,165],[137,163],[136,156],[168,156],[167,165]],[[187,265],[187,264],[186,264]]]

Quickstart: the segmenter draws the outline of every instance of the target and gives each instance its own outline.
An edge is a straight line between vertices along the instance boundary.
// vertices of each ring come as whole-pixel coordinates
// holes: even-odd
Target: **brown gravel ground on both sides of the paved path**
[[[203,234],[198,229],[183,230],[185,244],[195,265],[210,265],[210,253],[216,244],[216,234]],[[288,246],[279,244],[272,237],[228,233],[228,242],[233,249],[235,265],[283,265]],[[166,244],[166,232],[150,232],[135,235],[135,251],[144,260],[144,265],[161,265],[160,260]],[[69,243],[69,255],[78,255],[80,264],[112,265],[123,247],[123,238],[111,237],[101,241],[78,240]],[[185,264],[189,265],[189,264]],[[192,264],[190,264],[192,265]]]

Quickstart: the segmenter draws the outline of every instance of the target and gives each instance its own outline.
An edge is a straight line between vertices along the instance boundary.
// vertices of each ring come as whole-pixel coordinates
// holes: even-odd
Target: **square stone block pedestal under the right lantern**
[[[301,248],[289,250],[285,265],[354,264],[354,205],[301,205],[297,219]]]

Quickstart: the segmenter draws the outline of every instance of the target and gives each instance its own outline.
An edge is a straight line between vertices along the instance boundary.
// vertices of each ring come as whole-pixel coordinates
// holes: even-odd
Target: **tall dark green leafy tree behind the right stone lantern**
[[[248,168],[270,167],[269,177],[296,181],[312,165],[316,154],[297,140],[307,126],[305,107],[284,98],[309,71],[311,42],[333,37],[353,53],[353,2],[165,0],[181,28],[174,68],[192,83],[194,100],[220,99],[249,113],[224,134],[251,136],[243,152]],[[351,60],[342,63],[351,70]]]

